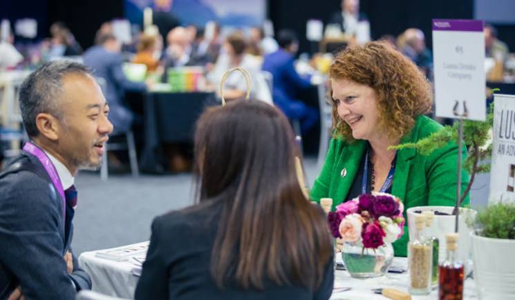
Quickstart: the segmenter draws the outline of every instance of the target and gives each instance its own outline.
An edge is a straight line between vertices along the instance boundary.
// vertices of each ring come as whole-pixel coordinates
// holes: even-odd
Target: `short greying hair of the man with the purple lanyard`
[[[19,109],[29,137],[37,137],[39,130],[36,117],[41,113],[52,114],[62,120],[64,112],[60,108],[59,96],[63,92],[63,77],[68,74],[91,75],[82,63],[61,59],[44,63],[32,72],[19,90]]]

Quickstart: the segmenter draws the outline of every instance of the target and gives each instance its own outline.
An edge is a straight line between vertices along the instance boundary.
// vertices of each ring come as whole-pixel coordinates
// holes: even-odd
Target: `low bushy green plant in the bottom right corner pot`
[[[515,239],[515,203],[499,202],[478,212],[478,235],[494,239]]]

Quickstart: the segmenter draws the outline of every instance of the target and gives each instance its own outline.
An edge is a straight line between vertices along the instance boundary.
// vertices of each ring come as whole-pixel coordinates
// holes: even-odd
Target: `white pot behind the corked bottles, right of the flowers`
[[[422,212],[424,210],[433,210],[451,214],[454,208],[452,206],[415,206],[409,208],[406,210],[406,214],[408,215],[408,227],[410,229],[415,228],[415,211],[417,210],[421,210]],[[458,259],[465,263],[465,268],[467,269],[465,272],[467,272],[467,274],[471,269],[469,264],[471,263],[470,232],[472,231],[472,229],[467,226],[467,220],[474,219],[476,214],[476,210],[460,208],[460,216],[458,218],[458,234],[460,234],[458,238]],[[438,241],[440,241],[440,251],[438,252],[438,262],[440,263],[444,261],[447,256],[445,234],[454,232],[455,224],[456,216],[435,214],[433,226],[424,230],[426,237],[436,237]],[[409,239],[415,239],[415,230],[409,230]]]

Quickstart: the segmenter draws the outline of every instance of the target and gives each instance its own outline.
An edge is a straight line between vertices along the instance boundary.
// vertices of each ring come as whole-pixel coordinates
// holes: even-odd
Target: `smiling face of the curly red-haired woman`
[[[384,132],[377,128],[379,111],[373,88],[348,79],[331,79],[331,89],[338,115],[350,126],[354,139],[370,141]]]

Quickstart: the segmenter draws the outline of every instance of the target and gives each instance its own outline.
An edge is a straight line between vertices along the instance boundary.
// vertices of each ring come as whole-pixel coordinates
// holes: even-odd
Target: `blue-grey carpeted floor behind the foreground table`
[[[304,162],[308,185],[312,186],[319,170],[316,159]],[[168,210],[184,208],[193,203],[191,174],[167,176],[111,175],[101,181],[94,172],[77,176],[79,204],[75,213],[75,254],[99,250],[150,238],[152,219]],[[471,193],[472,206],[487,203],[489,175],[480,174]]]

